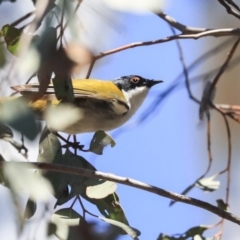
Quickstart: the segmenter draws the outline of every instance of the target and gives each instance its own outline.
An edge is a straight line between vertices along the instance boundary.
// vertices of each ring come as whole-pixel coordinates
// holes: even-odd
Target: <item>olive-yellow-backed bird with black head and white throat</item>
[[[40,116],[41,120],[44,120],[44,113],[51,107],[56,109],[68,104],[79,110],[79,117],[71,121],[68,112],[65,112],[63,108],[60,116],[69,120],[69,124],[50,124],[48,127],[52,131],[68,134],[98,130],[111,131],[125,124],[140,108],[150,88],[161,82],[163,81],[150,80],[138,75],[122,76],[112,81],[73,79],[74,100],[72,103],[58,100],[51,83],[40,99],[29,102],[28,105]],[[26,97],[37,93],[39,86],[38,83],[33,83],[11,88]]]

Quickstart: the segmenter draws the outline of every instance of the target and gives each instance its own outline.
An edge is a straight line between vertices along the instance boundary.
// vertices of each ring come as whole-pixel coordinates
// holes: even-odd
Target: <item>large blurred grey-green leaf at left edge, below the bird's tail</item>
[[[21,97],[2,104],[0,120],[30,140],[33,140],[40,131],[40,124],[36,122],[33,111]]]

